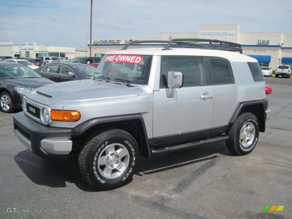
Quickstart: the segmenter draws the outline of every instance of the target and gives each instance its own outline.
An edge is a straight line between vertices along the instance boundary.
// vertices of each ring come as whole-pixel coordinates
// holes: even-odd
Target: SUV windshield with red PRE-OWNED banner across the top
[[[124,79],[133,84],[147,84],[151,55],[105,55],[100,61],[95,77]]]

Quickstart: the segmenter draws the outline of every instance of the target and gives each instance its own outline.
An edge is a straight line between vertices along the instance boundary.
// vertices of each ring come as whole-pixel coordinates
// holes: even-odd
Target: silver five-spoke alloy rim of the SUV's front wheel
[[[107,145],[98,157],[98,170],[105,178],[117,178],[128,167],[129,159],[130,154],[124,145]]]

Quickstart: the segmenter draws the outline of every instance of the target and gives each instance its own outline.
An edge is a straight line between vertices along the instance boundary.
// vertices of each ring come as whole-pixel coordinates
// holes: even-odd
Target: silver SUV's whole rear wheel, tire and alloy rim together
[[[249,154],[255,148],[258,137],[258,118],[252,113],[244,113],[231,126],[226,146],[235,155]]]

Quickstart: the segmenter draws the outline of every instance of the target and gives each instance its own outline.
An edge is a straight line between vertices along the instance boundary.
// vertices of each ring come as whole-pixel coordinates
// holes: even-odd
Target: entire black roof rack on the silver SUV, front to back
[[[165,40],[141,40],[131,41],[121,50],[127,49],[130,45],[140,45],[142,43],[164,43],[167,44],[162,50],[171,50],[173,48],[200,48],[200,49],[216,49],[232,52],[242,53],[241,44],[233,43],[229,41],[217,40],[217,39],[172,39],[170,41]]]

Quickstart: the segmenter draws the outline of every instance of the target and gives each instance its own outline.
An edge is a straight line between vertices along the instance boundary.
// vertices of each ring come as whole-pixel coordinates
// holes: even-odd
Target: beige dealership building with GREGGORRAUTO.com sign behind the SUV
[[[281,32],[240,32],[239,25],[199,25],[198,32],[161,33],[157,37],[108,37],[92,40],[92,54],[102,57],[106,52],[119,50],[133,40],[169,40],[175,38],[218,39],[242,45],[243,54],[258,60],[260,66],[275,69],[280,64],[292,65],[292,34]],[[90,41],[88,41],[88,46]],[[135,45],[131,48],[153,47]],[[161,45],[159,45],[161,46]]]

